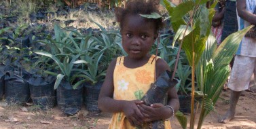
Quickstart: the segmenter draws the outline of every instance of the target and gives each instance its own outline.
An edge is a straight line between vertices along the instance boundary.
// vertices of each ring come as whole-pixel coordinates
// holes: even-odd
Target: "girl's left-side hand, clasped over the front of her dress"
[[[124,105],[124,114],[132,126],[141,126],[143,124],[143,114],[137,105],[143,104],[141,100],[127,101]]]

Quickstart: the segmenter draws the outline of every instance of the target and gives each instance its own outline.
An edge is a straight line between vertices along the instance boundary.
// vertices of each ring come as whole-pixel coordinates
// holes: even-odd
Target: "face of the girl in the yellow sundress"
[[[123,48],[130,58],[147,55],[157,37],[155,24],[135,15],[126,16],[121,33]]]

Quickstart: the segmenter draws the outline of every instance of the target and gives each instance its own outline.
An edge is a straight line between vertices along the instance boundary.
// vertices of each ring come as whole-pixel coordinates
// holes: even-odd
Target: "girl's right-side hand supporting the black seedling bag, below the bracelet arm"
[[[168,109],[162,105],[162,103],[154,103],[150,106],[138,105],[141,113],[144,115],[144,122],[151,122],[159,119],[164,119],[164,116],[168,114]]]

